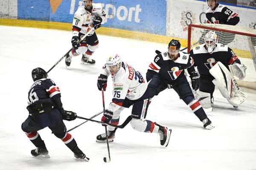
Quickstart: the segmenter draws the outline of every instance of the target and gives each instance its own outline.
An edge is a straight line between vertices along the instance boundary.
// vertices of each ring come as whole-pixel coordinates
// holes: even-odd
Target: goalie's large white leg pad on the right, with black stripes
[[[215,78],[212,83],[231,105],[238,107],[244,102],[246,95],[240,91],[236,79],[221,62],[217,62],[209,72]]]

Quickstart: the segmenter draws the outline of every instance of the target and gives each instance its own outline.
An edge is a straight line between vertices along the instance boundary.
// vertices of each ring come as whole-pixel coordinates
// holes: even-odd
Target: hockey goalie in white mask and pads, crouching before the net
[[[217,40],[215,32],[209,31],[205,35],[205,43],[192,48],[189,52],[200,74],[197,98],[206,112],[212,111],[215,86],[235,108],[246,99],[234,78],[235,76],[244,79],[246,66],[240,62],[231,48],[217,43]]]

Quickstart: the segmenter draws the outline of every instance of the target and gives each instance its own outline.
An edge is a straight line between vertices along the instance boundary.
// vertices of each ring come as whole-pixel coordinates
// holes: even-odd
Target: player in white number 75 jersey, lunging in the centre
[[[156,122],[145,120],[148,105],[150,103],[150,93],[147,93],[147,82],[139,71],[136,71],[131,65],[121,61],[118,54],[109,57],[102,74],[98,78],[98,89],[105,91],[107,87],[108,76],[113,80],[113,99],[102,116],[102,122],[110,122],[118,125],[119,115],[124,108],[131,105],[132,120],[131,126],[134,130],[141,132],[158,133],[160,135],[160,144],[167,146],[171,135],[171,129],[158,125]],[[113,142],[116,129],[108,127],[108,140]],[[96,142],[106,142],[106,133],[98,135]]]

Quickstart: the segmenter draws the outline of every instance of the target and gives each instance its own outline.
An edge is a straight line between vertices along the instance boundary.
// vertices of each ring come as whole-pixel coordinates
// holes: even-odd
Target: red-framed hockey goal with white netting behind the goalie
[[[190,24],[188,29],[188,52],[204,44],[204,36],[215,31],[218,43],[227,45],[246,65],[244,79],[235,77],[240,86],[256,89],[256,29],[223,24]]]

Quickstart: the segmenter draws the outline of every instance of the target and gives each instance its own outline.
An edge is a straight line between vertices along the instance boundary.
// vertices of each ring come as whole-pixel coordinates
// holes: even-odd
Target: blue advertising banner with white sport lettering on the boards
[[[108,28],[166,35],[166,0],[94,0]],[[18,19],[72,23],[81,0],[18,0]]]

